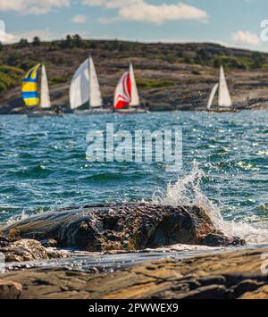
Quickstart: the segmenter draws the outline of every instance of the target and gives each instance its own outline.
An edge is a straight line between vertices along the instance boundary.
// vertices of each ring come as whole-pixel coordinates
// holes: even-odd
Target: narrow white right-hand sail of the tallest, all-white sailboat
[[[103,105],[96,69],[91,56],[89,57],[89,95],[90,107],[100,107]]]

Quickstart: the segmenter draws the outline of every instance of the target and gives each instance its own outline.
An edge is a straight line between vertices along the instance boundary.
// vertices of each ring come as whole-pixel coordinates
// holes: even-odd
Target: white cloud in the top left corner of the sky
[[[1,0],[0,12],[15,11],[27,14],[45,14],[53,9],[69,7],[71,0]]]

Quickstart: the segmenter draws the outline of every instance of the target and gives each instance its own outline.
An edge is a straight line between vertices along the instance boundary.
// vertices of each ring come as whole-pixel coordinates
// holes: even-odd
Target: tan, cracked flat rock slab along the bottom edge
[[[0,274],[0,298],[10,296],[6,288],[1,288],[2,283],[21,285],[19,298],[268,299],[268,276],[261,271],[262,254],[267,253],[267,248],[225,252],[184,261],[142,263],[99,274],[45,269],[13,271]]]

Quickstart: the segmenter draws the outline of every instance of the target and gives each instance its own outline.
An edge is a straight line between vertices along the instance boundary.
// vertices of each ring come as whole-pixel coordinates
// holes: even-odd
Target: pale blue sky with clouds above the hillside
[[[267,0],[0,0],[1,25],[5,43],[78,33],[92,39],[216,42],[268,52]]]

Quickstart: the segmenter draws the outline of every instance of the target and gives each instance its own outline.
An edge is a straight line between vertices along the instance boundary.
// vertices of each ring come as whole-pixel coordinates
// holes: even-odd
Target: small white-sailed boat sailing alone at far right
[[[213,108],[212,105],[214,102],[214,96],[216,95],[216,92],[219,90],[219,97],[218,97],[218,108]],[[230,97],[229,88],[226,82],[225,74],[223,67],[221,66],[220,69],[220,79],[219,83],[214,85],[214,88],[211,91],[211,94],[208,99],[206,110],[209,112],[230,112],[233,110],[232,101]]]

